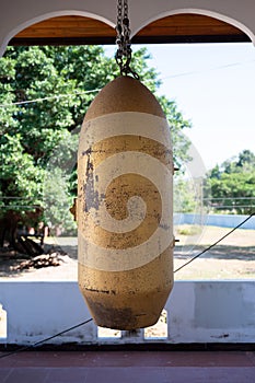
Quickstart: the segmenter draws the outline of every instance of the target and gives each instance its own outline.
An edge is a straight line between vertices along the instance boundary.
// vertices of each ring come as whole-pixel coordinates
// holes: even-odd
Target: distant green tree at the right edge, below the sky
[[[207,176],[206,193],[217,211],[252,213],[255,201],[253,152],[244,150],[237,158],[224,161],[221,166],[215,166]]]

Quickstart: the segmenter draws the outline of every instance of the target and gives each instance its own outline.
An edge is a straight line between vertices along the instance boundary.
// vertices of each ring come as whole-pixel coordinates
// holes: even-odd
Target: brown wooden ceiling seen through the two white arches
[[[58,16],[33,24],[15,35],[10,45],[115,44],[115,30],[83,16]],[[132,37],[134,44],[250,42],[248,36],[218,19],[175,14],[157,20]]]

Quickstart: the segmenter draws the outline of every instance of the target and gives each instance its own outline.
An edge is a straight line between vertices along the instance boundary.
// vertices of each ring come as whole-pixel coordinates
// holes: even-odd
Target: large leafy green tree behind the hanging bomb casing
[[[132,67],[155,92],[160,81],[148,58],[146,49],[136,51]],[[19,222],[42,219],[74,230],[69,207],[77,194],[79,129],[96,90],[116,76],[115,60],[100,46],[7,49],[0,59],[0,245],[7,237],[15,243]],[[160,102],[181,163],[189,146],[182,131],[190,124],[174,102]]]

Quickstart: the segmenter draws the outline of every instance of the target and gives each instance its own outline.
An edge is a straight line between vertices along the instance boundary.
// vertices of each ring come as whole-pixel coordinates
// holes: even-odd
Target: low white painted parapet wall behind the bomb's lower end
[[[7,311],[3,344],[30,345],[90,318],[77,282],[1,282]],[[255,343],[255,281],[176,281],[165,306],[169,336],[163,343]],[[50,344],[143,343],[123,332],[120,339],[97,338],[93,322]]]

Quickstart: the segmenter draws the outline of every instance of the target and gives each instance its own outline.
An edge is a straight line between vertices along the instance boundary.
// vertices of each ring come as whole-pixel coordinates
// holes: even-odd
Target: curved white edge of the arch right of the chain
[[[209,10],[205,10],[205,9],[196,9],[196,8],[182,8],[182,9],[175,9],[174,11],[165,11],[165,12],[159,13],[159,14],[154,15],[153,18],[144,20],[142,22],[142,24],[137,30],[132,31],[131,37],[134,37],[139,31],[141,31],[143,27],[146,27],[147,25],[149,25],[150,23],[152,23],[157,20],[166,18],[166,16],[171,16],[171,15],[175,15],[175,14],[184,14],[184,13],[200,14],[200,15],[210,16],[213,19],[221,20],[221,21],[223,21],[230,25],[233,25],[233,26],[237,27],[239,30],[243,31],[251,38],[252,43],[255,45],[254,33],[243,23],[239,22],[235,19],[227,16],[222,13],[218,13],[218,12],[213,12],[213,11],[209,11]]]

